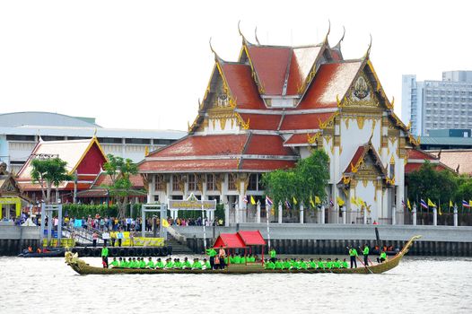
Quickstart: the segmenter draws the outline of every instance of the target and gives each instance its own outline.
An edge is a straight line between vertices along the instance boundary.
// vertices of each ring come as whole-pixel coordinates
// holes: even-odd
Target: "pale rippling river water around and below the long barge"
[[[0,287],[0,313],[472,313],[472,258],[405,257],[381,275],[81,276],[64,258],[0,257]]]

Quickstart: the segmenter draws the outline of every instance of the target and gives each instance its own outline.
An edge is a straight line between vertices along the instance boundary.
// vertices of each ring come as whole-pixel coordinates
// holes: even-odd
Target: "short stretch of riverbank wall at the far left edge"
[[[39,227],[0,226],[0,256],[16,256],[29,246],[39,247]]]

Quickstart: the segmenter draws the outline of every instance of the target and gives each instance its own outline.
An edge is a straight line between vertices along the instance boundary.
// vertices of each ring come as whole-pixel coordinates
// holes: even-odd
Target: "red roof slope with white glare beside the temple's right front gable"
[[[297,109],[335,108],[354,81],[362,61],[320,65]]]

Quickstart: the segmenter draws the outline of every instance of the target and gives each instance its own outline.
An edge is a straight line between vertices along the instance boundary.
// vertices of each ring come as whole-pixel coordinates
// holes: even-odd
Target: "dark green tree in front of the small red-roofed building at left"
[[[61,182],[72,179],[66,170],[66,165],[67,162],[59,157],[31,161],[31,179],[41,186],[42,197],[47,204],[50,203],[51,188],[53,186],[58,188]]]

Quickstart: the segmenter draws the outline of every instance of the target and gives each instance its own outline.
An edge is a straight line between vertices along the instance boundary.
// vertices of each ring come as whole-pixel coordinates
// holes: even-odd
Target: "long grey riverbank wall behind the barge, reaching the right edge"
[[[375,228],[378,228],[380,245],[402,248],[414,235],[422,235],[409,251],[411,256],[472,257],[472,227],[412,226],[412,225],[359,225],[359,224],[271,224],[270,244],[279,254],[345,255],[346,247],[377,245]],[[204,250],[203,227],[172,228],[186,239],[188,248],[195,253]],[[205,227],[206,244],[220,233],[238,230],[258,230],[264,239],[267,225],[241,223],[231,227]],[[256,249],[257,253],[260,250]]]

